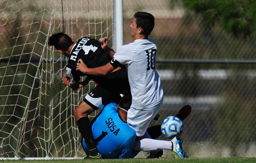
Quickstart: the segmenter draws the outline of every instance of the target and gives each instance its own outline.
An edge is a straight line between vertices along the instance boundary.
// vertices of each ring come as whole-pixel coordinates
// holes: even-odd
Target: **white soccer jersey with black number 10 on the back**
[[[138,39],[124,45],[114,58],[126,65],[134,108],[154,106],[161,101],[164,93],[155,69],[156,45],[152,40]]]

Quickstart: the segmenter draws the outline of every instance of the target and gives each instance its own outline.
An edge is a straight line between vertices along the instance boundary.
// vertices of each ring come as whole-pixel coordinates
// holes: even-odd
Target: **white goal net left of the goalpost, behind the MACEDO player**
[[[114,1],[0,3],[0,157],[83,157],[73,111],[95,83],[78,91],[62,84],[68,59],[48,36],[108,36],[113,48]]]

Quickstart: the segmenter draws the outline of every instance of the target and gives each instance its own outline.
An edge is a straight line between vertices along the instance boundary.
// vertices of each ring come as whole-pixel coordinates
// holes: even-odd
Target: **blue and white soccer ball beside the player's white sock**
[[[180,136],[183,132],[182,121],[174,116],[166,117],[161,125],[162,134],[170,139]]]

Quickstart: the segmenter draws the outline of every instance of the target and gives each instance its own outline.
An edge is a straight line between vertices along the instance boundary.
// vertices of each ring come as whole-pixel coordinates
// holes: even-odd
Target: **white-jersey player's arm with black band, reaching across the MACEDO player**
[[[116,68],[118,68],[120,63],[113,58],[110,62],[108,62],[108,64],[104,66],[100,66],[97,68],[88,68],[86,64],[84,64],[84,62],[81,59],[79,59],[76,65],[76,71],[80,71],[84,74],[89,75],[105,76],[113,72]]]

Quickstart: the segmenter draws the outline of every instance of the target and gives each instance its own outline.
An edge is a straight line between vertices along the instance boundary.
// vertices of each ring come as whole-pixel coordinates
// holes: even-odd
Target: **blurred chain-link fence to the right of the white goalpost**
[[[138,11],[155,16],[156,43],[164,89],[160,124],[184,105],[184,149],[195,157],[255,157],[256,43],[220,27],[206,27],[200,14],[179,0],[124,1],[124,42],[132,42],[130,19]],[[159,139],[164,139],[160,137]]]

